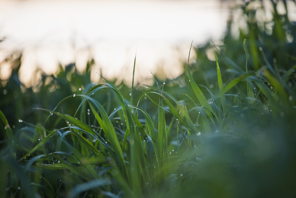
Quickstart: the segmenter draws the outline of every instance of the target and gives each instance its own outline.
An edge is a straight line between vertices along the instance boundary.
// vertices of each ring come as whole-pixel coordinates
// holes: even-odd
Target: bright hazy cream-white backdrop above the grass
[[[83,72],[94,58],[91,79],[130,83],[136,54],[136,80],[151,80],[150,70],[173,78],[181,74],[190,44],[218,41],[226,31],[229,4],[219,0],[2,0],[0,63],[22,51],[20,80],[34,83],[36,69],[50,75],[58,64],[75,62]],[[192,53],[192,61],[195,55]],[[0,78],[11,68],[1,64]],[[40,72],[39,72],[40,75]],[[36,81],[35,81],[36,82]]]

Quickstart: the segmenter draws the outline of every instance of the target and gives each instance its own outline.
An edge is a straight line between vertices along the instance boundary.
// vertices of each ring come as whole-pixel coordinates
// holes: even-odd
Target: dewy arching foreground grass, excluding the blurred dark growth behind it
[[[245,41],[243,46],[247,54]],[[88,86],[83,90],[86,94],[62,99],[53,110],[38,108],[49,113],[45,122],[64,123],[60,128],[46,130],[45,123],[29,124],[13,134],[1,112],[7,145],[1,150],[1,166],[7,183],[1,181],[9,186],[1,190],[8,197],[294,193],[295,101],[289,99],[288,93],[294,91],[287,85],[287,73],[293,72],[283,76],[274,76],[268,69],[260,75],[242,73],[223,85],[217,57],[216,68],[218,90],[208,90],[208,99],[188,66],[188,86],[194,97],[189,91],[183,93],[183,100],[165,91],[164,84],[162,88],[145,85],[137,105],[131,105],[105,79],[106,83]],[[235,88],[240,92],[228,94]],[[115,104],[108,101],[103,106],[94,99],[103,90],[115,98]],[[144,97],[155,105],[155,115],[141,107]],[[74,115],[63,109],[72,100],[80,101]],[[110,114],[108,106],[115,107]],[[268,179],[269,171],[274,182]],[[271,191],[272,185],[279,187]]]

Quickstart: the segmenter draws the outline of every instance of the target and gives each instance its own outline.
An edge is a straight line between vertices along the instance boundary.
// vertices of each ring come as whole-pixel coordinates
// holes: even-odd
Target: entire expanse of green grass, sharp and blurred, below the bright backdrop
[[[294,35],[295,24],[275,9],[279,24],[269,34],[252,20],[260,9],[248,9],[252,2],[237,8],[249,33],[230,39],[229,26],[225,46],[211,49],[215,61],[206,56],[210,44],[194,49],[196,63],[184,64],[176,79],[93,84],[69,65],[44,76],[39,92],[21,92],[14,81],[19,106],[1,98],[1,193],[294,197],[296,53],[295,40],[282,36]],[[33,110],[23,111],[27,104]]]

